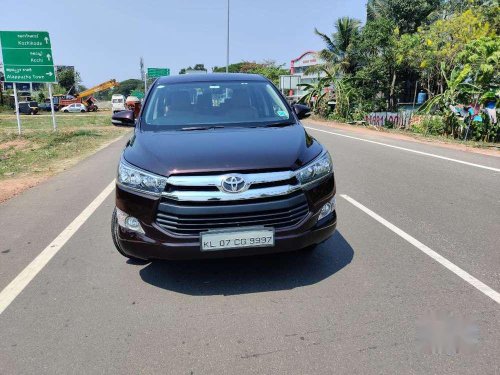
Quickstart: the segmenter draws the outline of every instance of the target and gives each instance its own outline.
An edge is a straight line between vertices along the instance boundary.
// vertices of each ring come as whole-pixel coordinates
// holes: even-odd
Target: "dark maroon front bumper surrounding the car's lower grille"
[[[141,259],[202,259],[280,253],[300,250],[326,241],[335,231],[337,214],[318,222],[319,211],[335,196],[333,175],[304,190],[309,213],[297,225],[275,229],[275,246],[204,252],[199,236],[169,232],[156,222],[161,198],[143,195],[120,185],[116,187],[116,206],[139,219],[144,233],[119,227],[117,241],[128,255]]]

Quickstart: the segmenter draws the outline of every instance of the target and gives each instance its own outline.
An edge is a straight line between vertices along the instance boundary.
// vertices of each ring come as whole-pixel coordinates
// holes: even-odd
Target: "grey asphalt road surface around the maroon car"
[[[338,184],[317,252],[127,262],[104,196],[0,313],[0,374],[500,374],[500,158],[308,126]],[[0,291],[125,141],[0,205]]]

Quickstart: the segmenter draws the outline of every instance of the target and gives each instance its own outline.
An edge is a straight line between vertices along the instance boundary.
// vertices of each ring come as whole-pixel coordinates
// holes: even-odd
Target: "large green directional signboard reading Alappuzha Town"
[[[0,31],[5,82],[56,82],[49,33]]]

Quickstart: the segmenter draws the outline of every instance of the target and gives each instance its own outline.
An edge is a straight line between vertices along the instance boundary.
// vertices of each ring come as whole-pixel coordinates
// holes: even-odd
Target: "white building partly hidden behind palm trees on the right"
[[[280,77],[281,92],[292,100],[298,100],[305,94],[299,84],[314,83],[325,75],[324,72],[310,73],[311,67],[325,64],[316,51],[304,52],[299,57],[290,61],[290,75]]]

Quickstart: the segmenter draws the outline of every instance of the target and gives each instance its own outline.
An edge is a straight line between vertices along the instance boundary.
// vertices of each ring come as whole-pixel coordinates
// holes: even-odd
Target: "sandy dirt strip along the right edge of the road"
[[[308,123],[314,124],[314,125],[327,126],[327,127],[334,128],[334,129],[348,130],[350,132],[354,132],[354,133],[358,133],[358,134],[379,135],[379,136],[391,138],[391,139],[398,139],[398,140],[423,143],[423,144],[431,144],[431,145],[435,145],[435,146],[439,146],[439,147],[443,147],[443,148],[448,148],[448,149],[452,149],[452,150],[466,151],[466,152],[472,152],[472,153],[476,153],[476,154],[500,157],[500,150],[499,149],[473,147],[473,146],[466,145],[466,144],[454,143],[452,141],[446,142],[446,141],[442,141],[442,140],[434,139],[434,138],[424,138],[423,136],[419,136],[418,134],[408,134],[407,135],[407,134],[401,134],[401,133],[393,133],[393,132],[388,132],[385,130],[378,130],[374,127],[348,125],[348,124],[343,124],[343,123],[339,123],[339,122],[335,122],[335,121],[325,121],[325,120],[318,120],[318,119],[307,119],[305,122],[308,122]]]

